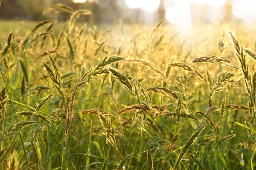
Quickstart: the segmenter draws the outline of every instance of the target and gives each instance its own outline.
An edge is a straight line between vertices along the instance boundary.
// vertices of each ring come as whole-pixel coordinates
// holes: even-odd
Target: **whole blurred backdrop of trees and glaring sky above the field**
[[[80,21],[89,24],[140,23],[154,25],[166,18],[180,27],[211,23],[256,22],[256,0],[2,0],[0,20],[66,21],[69,13],[47,11],[52,4],[63,3],[74,10],[93,12]]]

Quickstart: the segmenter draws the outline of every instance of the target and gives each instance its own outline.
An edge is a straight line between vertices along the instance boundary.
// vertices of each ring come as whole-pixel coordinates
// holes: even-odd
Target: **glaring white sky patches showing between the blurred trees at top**
[[[87,0],[74,0],[77,3],[83,3]],[[110,0],[96,0],[99,6],[108,6]],[[191,2],[197,4],[208,4],[212,12],[224,6],[226,0],[164,0],[163,8],[166,10],[166,19],[171,23],[182,24],[183,26],[191,24]],[[233,14],[244,20],[246,23],[256,23],[256,0],[231,0],[233,5]],[[160,0],[117,0],[121,8],[143,9],[145,12],[154,13],[160,6]]]

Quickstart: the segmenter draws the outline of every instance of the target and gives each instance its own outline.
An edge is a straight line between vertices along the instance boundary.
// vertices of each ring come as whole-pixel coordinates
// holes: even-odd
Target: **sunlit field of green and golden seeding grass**
[[[255,31],[0,21],[0,169],[253,170]]]

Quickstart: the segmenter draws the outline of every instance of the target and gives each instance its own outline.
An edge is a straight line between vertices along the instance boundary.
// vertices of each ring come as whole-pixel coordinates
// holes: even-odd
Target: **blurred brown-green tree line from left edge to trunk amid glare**
[[[96,3],[96,2],[98,3]],[[161,0],[162,2],[163,0]],[[101,6],[107,2],[107,6]],[[148,14],[144,14],[141,9],[122,9],[117,5],[117,0],[87,0],[85,3],[74,3],[73,0],[2,0],[0,6],[0,20],[45,20],[57,19],[66,21],[70,18],[67,12],[54,13],[48,11],[43,15],[43,11],[47,6],[63,3],[70,6],[75,11],[78,9],[88,9],[93,15],[83,16],[81,20],[88,23],[118,23],[122,19],[124,23],[143,23],[149,21]],[[123,0],[124,3],[124,0]],[[154,14],[153,14],[154,15]],[[163,19],[165,11],[159,9],[157,11],[157,19]]]

